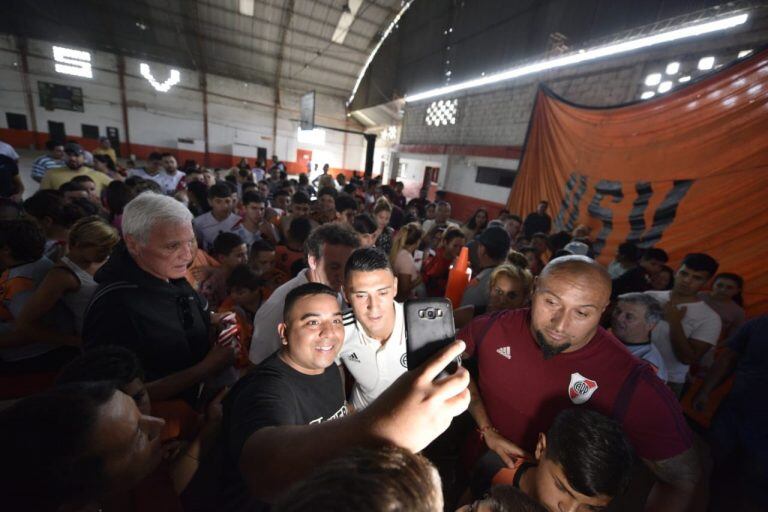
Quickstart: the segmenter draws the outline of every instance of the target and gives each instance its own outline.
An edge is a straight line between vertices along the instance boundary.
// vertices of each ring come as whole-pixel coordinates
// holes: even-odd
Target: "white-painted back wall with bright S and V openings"
[[[38,131],[48,131],[48,121],[63,122],[68,135],[81,136],[81,124],[99,126],[103,135],[107,126],[118,128],[125,141],[116,56],[77,48],[91,53],[94,76],[92,79],[64,75],[54,71],[53,43],[29,41],[29,72],[35,101]],[[178,138],[204,139],[203,103],[200,76],[196,71],[177,68],[181,82],[169,92],[155,91],[139,72],[141,61],[126,58],[126,96],[130,139],[133,144],[176,148]],[[162,82],[170,67],[148,62],[155,78]],[[27,115],[32,128],[23,94],[20,56],[13,38],[0,36],[0,128],[7,128],[5,112]],[[46,111],[39,106],[37,82],[47,81],[80,87],[83,90],[85,112],[64,110]],[[241,148],[244,156],[255,148],[267,148],[268,155],[276,153],[281,159],[296,160],[297,149],[310,149],[322,163],[332,167],[362,170],[365,162],[365,143],[360,136],[347,137],[328,130],[322,146],[299,144],[296,129],[299,117],[299,97],[304,91],[281,91],[278,110],[277,140],[273,140],[274,91],[253,83],[208,75],[208,132],[211,153],[230,154],[233,144]],[[359,129],[348,121],[343,98],[317,95],[316,122],[318,124]],[[251,147],[251,150],[248,149]],[[316,160],[316,158],[313,158]]]

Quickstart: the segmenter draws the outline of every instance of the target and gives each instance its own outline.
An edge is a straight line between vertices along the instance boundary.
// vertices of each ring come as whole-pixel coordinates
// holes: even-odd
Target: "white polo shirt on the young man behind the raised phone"
[[[352,404],[360,410],[408,371],[402,303],[395,302],[395,327],[384,344],[365,334],[365,329],[355,320],[351,309],[344,313],[344,334],[344,346],[336,363],[344,363],[355,378]]]

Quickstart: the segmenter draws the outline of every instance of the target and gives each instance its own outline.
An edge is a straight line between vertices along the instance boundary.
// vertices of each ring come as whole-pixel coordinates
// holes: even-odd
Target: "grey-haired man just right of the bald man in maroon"
[[[651,364],[656,375],[667,381],[667,369],[659,350],[651,343],[651,332],[664,319],[661,303],[641,292],[619,295],[611,313],[611,332],[633,355]]]

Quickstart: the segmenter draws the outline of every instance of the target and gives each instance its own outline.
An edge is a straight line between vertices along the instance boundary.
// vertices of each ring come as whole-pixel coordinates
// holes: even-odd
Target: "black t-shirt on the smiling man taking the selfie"
[[[268,510],[249,495],[238,468],[243,446],[254,432],[280,425],[312,425],[347,414],[341,373],[335,364],[321,375],[305,375],[278,354],[242,378],[224,401],[222,510]]]

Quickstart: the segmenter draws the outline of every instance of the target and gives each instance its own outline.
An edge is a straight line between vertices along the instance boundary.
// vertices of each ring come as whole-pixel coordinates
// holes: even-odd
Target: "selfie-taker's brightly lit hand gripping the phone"
[[[413,452],[429,445],[469,405],[469,372],[459,367],[456,373],[435,380],[451,361],[464,351],[457,341],[424,363],[402,375],[368,408],[365,415],[371,433]]]

